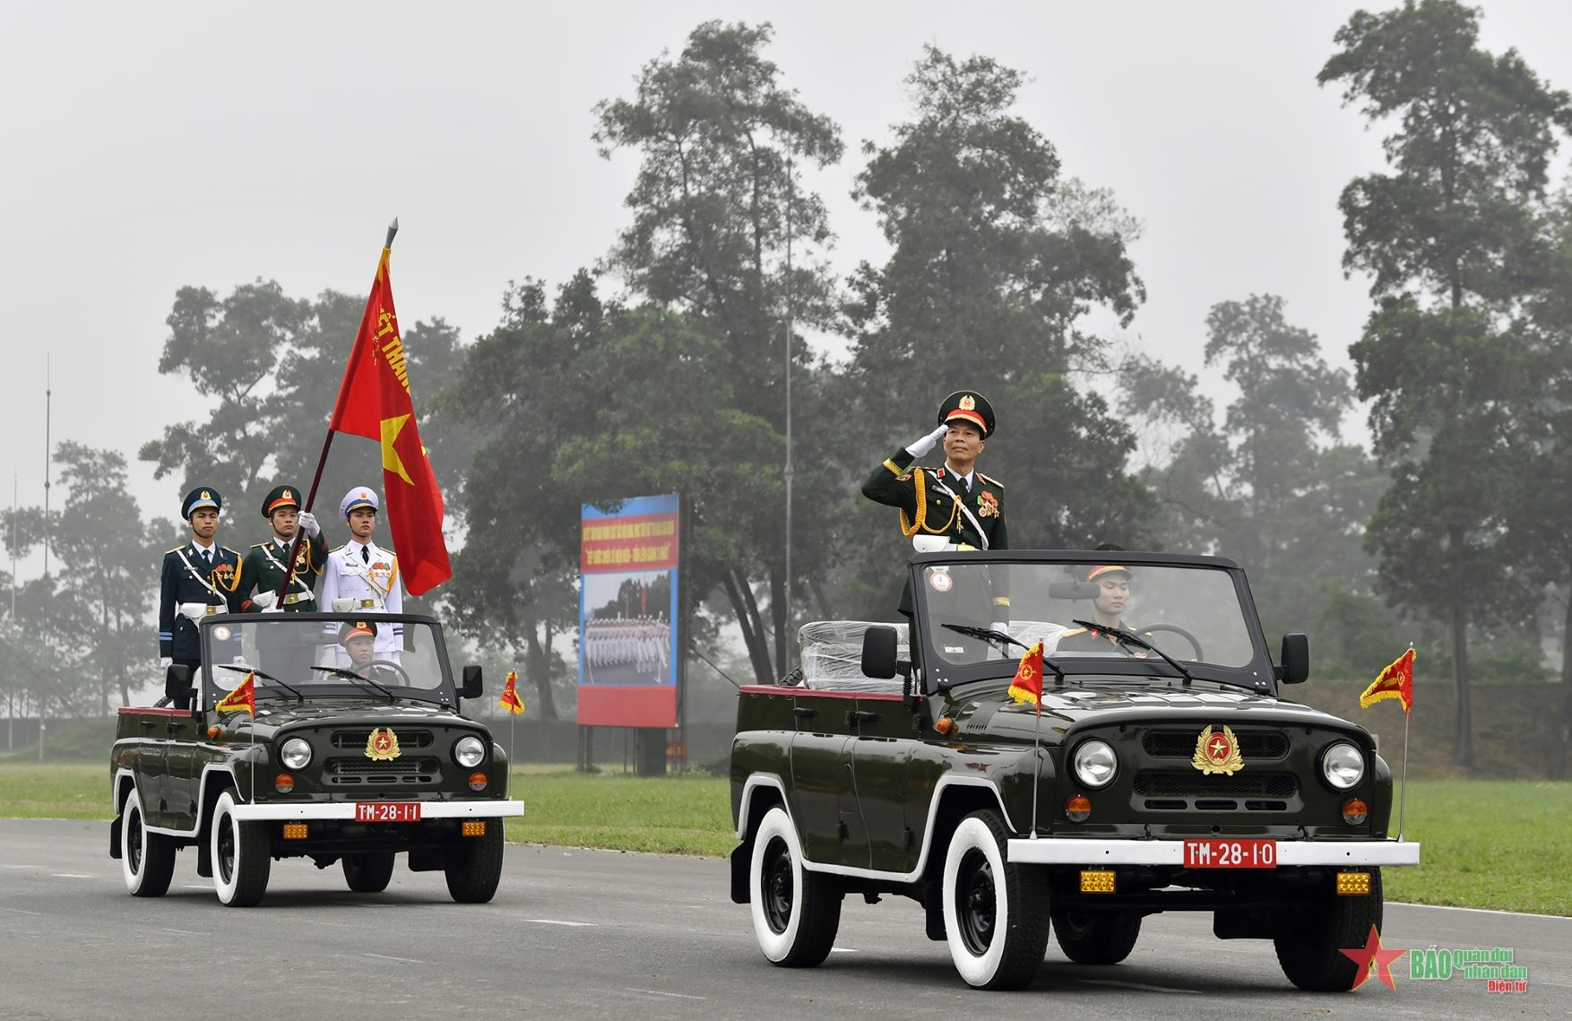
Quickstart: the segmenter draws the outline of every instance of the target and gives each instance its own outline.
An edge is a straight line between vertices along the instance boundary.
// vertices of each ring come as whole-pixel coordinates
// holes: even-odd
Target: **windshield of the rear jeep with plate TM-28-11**
[[[256,698],[374,697],[454,702],[431,618],[233,614],[203,625],[204,705],[256,675]]]

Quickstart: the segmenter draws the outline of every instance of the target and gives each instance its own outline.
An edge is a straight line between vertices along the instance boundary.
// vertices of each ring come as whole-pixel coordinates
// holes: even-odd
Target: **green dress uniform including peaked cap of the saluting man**
[[[957,390],[945,398],[938,423],[951,420],[971,422],[984,439],[994,434],[994,409],[978,393]],[[913,540],[938,536],[954,543],[956,549],[1009,549],[1005,483],[975,467],[965,478],[948,467],[913,467],[913,461],[916,456],[910,450],[896,450],[863,481],[865,497],[901,508],[902,535]],[[1003,576],[992,579],[987,603],[994,620],[1009,618],[1009,592]],[[910,581],[901,592],[899,610],[912,614]],[[981,623],[986,626],[990,621]]]

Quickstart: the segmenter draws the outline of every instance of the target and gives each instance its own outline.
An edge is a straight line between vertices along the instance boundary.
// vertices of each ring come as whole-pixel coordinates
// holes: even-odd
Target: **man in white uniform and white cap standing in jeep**
[[[377,527],[377,494],[369,486],[355,486],[338,502],[338,513],[349,522],[349,541],[327,555],[322,565],[322,607],[336,614],[402,614],[404,582],[398,576],[398,557],[371,541]],[[329,661],[344,665],[338,645],[338,625],[324,629]],[[404,648],[404,625],[377,628],[377,659],[398,662]]]

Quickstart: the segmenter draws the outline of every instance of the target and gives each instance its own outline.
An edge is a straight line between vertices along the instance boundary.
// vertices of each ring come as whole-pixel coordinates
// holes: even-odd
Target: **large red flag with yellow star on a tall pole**
[[[344,367],[338,403],[329,429],[365,436],[382,444],[382,496],[404,588],[412,595],[453,577],[448,544],[442,538],[442,489],[415,426],[409,393],[409,363],[393,310],[388,280],[391,249],[382,249],[355,348]]]

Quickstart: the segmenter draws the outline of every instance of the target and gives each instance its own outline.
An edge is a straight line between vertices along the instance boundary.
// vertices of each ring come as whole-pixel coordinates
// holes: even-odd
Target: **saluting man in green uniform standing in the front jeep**
[[[1009,549],[1005,525],[1005,483],[976,470],[978,456],[994,434],[994,406],[976,390],[956,390],[938,406],[938,428],[890,455],[863,483],[869,500],[901,508],[901,533],[918,552],[938,549]],[[940,467],[912,467],[940,440]],[[1009,626],[1009,592],[1003,573],[992,581],[989,601],[994,626]],[[901,612],[912,614],[910,582],[901,592]]]

